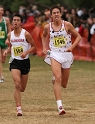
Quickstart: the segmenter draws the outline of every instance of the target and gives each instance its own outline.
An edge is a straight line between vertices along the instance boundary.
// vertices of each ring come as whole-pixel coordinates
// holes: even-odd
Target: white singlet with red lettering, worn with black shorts
[[[20,36],[15,36],[14,30],[11,32],[11,37],[10,37],[10,43],[12,44],[11,47],[11,57],[18,59],[18,60],[23,60],[22,57],[20,57],[22,52],[27,51],[30,48],[30,43],[26,41],[25,38],[25,29],[22,29]],[[29,57],[29,54],[24,58],[27,59]]]

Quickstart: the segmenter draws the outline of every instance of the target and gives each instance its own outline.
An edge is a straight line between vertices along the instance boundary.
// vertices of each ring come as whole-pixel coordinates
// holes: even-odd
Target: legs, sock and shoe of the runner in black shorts
[[[22,116],[21,92],[24,92],[28,80],[28,74],[21,75],[20,70],[12,69],[12,77],[15,83],[14,98],[17,106],[17,116]]]

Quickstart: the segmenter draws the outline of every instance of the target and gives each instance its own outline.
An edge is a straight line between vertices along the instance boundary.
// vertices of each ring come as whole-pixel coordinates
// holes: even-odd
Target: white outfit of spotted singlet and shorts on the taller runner
[[[50,51],[47,52],[47,56],[44,61],[51,65],[51,59],[55,59],[62,64],[62,68],[70,68],[73,63],[72,52],[66,52],[66,49],[72,45],[71,34],[68,34],[65,30],[64,21],[62,22],[61,29],[54,31],[52,28],[52,22],[50,23]]]

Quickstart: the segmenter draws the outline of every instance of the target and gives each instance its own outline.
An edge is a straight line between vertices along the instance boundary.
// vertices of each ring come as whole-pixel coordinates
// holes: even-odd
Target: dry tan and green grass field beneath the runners
[[[0,83],[0,124],[95,124],[95,62],[74,61],[62,100],[66,114],[59,116],[51,83],[50,66],[30,56],[31,71],[22,93],[23,116],[16,117],[14,83],[7,57],[5,82]]]

